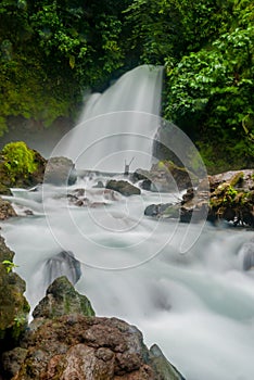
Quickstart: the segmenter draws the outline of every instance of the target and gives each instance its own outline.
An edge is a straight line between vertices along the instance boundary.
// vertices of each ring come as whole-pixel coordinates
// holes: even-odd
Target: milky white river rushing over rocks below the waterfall
[[[254,274],[243,270],[240,250],[251,233],[150,219],[148,204],[180,194],[142,190],[124,198],[94,188],[107,179],[89,174],[68,188],[15,191],[17,212],[28,207],[34,215],[2,223],[2,232],[31,306],[48,286],[45,266],[53,267],[59,252],[72,252],[81,271],[76,288],[97,315],[138,326],[145,343],[156,342],[187,380],[253,380]],[[85,189],[90,206],[69,203],[66,194],[77,189]],[[200,238],[183,254],[186,233]]]

